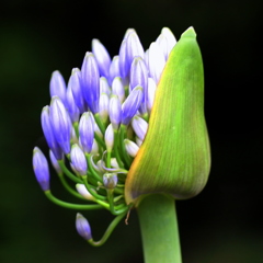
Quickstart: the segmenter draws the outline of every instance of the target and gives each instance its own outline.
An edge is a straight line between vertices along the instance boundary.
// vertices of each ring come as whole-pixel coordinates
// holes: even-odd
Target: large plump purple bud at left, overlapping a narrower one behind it
[[[50,123],[53,133],[62,151],[70,152],[71,123],[67,110],[58,96],[53,96],[50,103]]]

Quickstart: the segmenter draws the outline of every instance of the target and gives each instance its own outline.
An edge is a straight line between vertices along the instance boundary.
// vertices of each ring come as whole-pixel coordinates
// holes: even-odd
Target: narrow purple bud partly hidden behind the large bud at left
[[[45,135],[46,141],[48,147],[52,149],[54,156],[57,160],[62,159],[62,150],[60,146],[58,145],[55,135],[53,133],[53,127],[49,118],[49,106],[45,106],[42,110],[41,115],[41,122],[42,122],[42,129]]]

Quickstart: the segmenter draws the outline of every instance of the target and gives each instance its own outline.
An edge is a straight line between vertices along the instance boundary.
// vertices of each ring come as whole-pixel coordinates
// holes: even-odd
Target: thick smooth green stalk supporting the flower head
[[[146,196],[137,208],[145,263],[181,263],[174,199],[163,194]]]

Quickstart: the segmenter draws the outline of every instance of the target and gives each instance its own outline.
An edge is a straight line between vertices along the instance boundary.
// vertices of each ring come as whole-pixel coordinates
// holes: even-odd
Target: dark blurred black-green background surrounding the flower
[[[92,38],[114,56],[128,27],[148,47],[162,26],[180,38],[190,25],[204,59],[213,167],[202,194],[176,203],[184,263],[263,262],[261,15],[260,0],[2,1],[0,262],[142,262],[136,211],[102,248],[90,247],[76,232],[76,211],[42,193],[32,149],[45,150],[39,114],[49,103],[52,72],[68,80]],[[69,199],[55,173],[52,184]],[[99,239],[112,217],[84,215]]]

